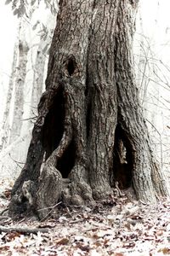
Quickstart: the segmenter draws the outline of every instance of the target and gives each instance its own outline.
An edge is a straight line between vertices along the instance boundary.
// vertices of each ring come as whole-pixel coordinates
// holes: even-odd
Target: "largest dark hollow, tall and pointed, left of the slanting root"
[[[62,88],[54,96],[53,104],[48,111],[42,128],[42,145],[46,151],[46,160],[58,147],[63,136],[65,119],[65,100]]]

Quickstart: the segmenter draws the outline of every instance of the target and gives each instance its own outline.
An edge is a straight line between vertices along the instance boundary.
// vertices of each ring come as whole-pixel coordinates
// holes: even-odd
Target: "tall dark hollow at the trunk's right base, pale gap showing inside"
[[[133,157],[131,147],[120,125],[116,126],[115,145],[113,150],[113,177],[120,189],[132,185]]]

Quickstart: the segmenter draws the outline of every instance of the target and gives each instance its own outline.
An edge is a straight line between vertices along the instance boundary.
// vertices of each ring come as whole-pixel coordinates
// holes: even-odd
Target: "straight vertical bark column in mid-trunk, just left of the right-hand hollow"
[[[114,70],[114,25],[118,3],[119,1],[98,2],[100,6],[96,4],[98,11],[88,46],[88,73],[91,74],[88,86],[95,91],[92,102],[92,124],[88,137],[90,182],[95,197],[101,197],[105,192],[111,193],[109,172],[116,128],[116,86],[112,71]],[[102,9],[105,9],[105,15],[101,20]],[[105,33],[105,30],[111,33]],[[108,65],[111,67],[109,70]]]

